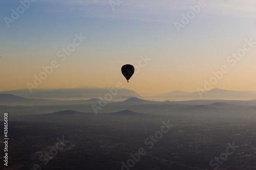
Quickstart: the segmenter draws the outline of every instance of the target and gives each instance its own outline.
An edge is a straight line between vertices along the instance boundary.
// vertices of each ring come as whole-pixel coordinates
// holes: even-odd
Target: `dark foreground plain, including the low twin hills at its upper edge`
[[[8,168],[256,169],[253,120],[196,117],[129,110],[13,117]],[[0,169],[4,168],[1,163]]]

